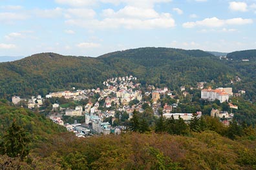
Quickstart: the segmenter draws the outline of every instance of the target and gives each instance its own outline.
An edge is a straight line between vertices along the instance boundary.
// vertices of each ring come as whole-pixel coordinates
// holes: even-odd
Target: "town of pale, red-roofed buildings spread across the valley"
[[[178,108],[181,104],[180,99],[191,100],[193,93],[189,91],[197,90],[200,91],[200,99],[204,102],[217,100],[228,104],[231,109],[229,113],[227,110],[214,108],[208,113],[211,117],[220,118],[220,121],[228,126],[233,118],[232,109],[238,109],[238,106],[229,102],[229,98],[234,95],[240,96],[245,91],[233,93],[232,88],[213,90],[211,87],[205,88],[205,84],[206,82],[198,82],[197,87],[180,86],[178,92],[167,87],[155,88],[153,85],[148,85],[144,89],[136,77],[129,75],[105,80],[103,89],[76,90],[73,87],[72,90],[49,93],[44,98],[41,95],[32,96],[31,99],[14,96],[12,103],[42,113],[48,109],[47,117],[56,124],[67,127],[68,131],[74,131],[78,137],[110,133],[119,135],[127,131],[127,121],[133,118],[134,111],[152,112],[152,117],[182,118],[185,122],[189,122],[193,115],[201,117],[202,111],[183,113]],[[171,100],[171,103],[164,102],[167,99]],[[73,117],[71,120],[74,122],[65,122],[63,117]],[[75,119],[78,117],[80,122]]]

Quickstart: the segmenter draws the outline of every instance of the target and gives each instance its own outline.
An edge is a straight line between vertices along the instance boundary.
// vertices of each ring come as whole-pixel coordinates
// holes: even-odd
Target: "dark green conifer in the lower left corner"
[[[12,126],[8,127],[3,136],[4,153],[10,157],[25,158],[28,155],[28,144],[30,139],[21,126],[17,125],[16,120],[12,122]]]

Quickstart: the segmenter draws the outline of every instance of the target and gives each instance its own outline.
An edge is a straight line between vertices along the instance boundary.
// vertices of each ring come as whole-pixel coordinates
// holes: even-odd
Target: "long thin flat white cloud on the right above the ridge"
[[[202,21],[196,22],[187,22],[182,26],[184,28],[193,28],[195,26],[206,26],[206,27],[220,27],[224,25],[241,25],[241,24],[251,24],[253,23],[252,19],[242,19],[242,18],[233,18],[233,19],[218,19],[217,17],[206,18]]]

